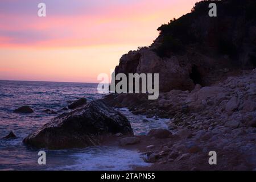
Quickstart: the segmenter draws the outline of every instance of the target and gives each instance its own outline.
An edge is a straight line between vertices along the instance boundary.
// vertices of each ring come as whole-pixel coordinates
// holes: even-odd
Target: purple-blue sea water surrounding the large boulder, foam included
[[[0,81],[0,170],[130,170],[147,166],[138,151],[118,147],[95,146],[71,150],[47,151],[47,165],[38,164],[35,148],[22,143],[23,138],[63,113],[61,109],[81,97],[88,101],[104,95],[97,93],[97,84],[70,82]],[[34,113],[13,113],[20,106],[29,105]],[[51,109],[57,114],[47,114]],[[136,135],[154,128],[166,127],[166,121],[149,119],[119,109],[131,122]],[[14,140],[1,139],[13,131]]]

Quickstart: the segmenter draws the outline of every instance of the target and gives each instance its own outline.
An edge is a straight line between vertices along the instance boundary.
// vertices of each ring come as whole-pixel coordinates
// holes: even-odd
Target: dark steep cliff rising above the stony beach
[[[256,2],[216,1],[217,17],[208,15],[209,1],[158,28],[150,47],[123,55],[118,73],[159,73],[162,92],[209,86],[241,69],[256,67]]]

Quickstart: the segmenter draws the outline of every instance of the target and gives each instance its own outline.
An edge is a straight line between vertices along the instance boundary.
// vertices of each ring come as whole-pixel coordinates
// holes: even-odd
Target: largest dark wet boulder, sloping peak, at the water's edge
[[[61,114],[23,142],[56,150],[98,145],[104,136],[117,133],[133,135],[133,129],[126,117],[98,100]]]

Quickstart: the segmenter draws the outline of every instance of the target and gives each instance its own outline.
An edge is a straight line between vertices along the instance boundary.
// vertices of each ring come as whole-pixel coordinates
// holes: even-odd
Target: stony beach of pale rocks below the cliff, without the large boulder
[[[166,137],[148,135],[131,148],[146,154],[159,170],[253,170],[256,168],[256,69],[243,71],[213,86],[189,91],[161,93],[158,101],[129,95],[108,96],[110,104],[129,106],[134,113],[170,118]],[[114,98],[113,98],[114,97]],[[131,99],[134,98],[134,99]],[[164,132],[164,131],[162,131]],[[162,133],[163,134],[163,133]],[[217,166],[210,166],[208,153],[216,151]]]

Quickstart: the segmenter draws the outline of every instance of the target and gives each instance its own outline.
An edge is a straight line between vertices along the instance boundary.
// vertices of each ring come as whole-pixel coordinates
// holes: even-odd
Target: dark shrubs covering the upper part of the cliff
[[[162,42],[154,51],[160,57],[168,57],[172,52],[179,53],[180,50],[193,46],[197,51],[204,50],[204,54],[216,52],[237,60],[250,27],[256,26],[256,2],[214,1],[217,4],[217,17],[209,17],[209,3],[197,2],[191,13],[160,26],[159,40]],[[255,62],[254,57],[253,53],[251,62]]]

